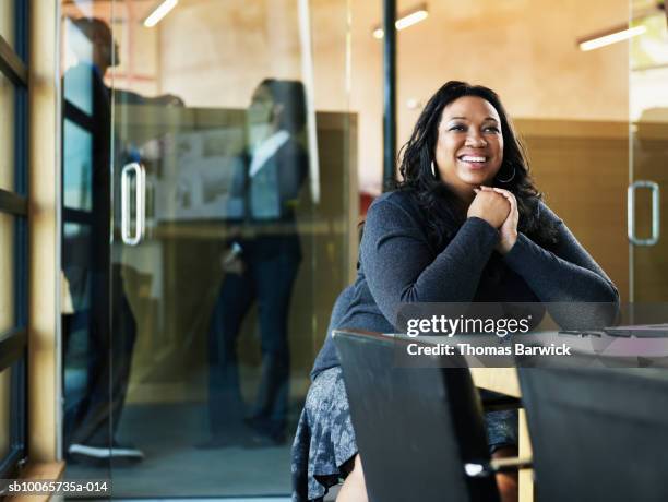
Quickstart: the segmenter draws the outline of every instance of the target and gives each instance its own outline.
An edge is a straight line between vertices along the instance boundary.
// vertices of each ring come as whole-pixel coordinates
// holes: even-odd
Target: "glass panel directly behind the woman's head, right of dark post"
[[[588,51],[580,43],[628,27],[629,1],[429,2],[428,11],[397,33],[399,146],[444,82],[494,89],[545,202],[628,299],[629,40]]]

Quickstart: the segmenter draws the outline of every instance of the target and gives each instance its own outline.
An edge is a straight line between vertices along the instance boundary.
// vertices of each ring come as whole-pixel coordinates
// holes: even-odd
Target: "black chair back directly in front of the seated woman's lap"
[[[493,476],[464,470],[489,461],[468,369],[398,368],[395,349],[408,342],[389,336],[335,332],[334,340],[370,502],[499,500]]]

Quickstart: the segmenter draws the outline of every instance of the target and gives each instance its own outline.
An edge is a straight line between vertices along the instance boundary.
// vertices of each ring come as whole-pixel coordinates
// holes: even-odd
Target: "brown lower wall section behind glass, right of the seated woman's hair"
[[[628,124],[517,120],[547,204],[629,298]]]

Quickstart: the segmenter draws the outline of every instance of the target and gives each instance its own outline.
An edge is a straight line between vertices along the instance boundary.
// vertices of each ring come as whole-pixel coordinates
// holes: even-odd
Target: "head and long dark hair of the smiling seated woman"
[[[554,243],[557,228],[540,220],[541,195],[524,146],[501,99],[488,87],[456,81],[441,86],[404,145],[399,172],[404,179],[396,188],[415,192],[430,214],[426,225],[437,246],[470,216],[474,190],[481,186],[513,193],[518,230],[544,247]]]

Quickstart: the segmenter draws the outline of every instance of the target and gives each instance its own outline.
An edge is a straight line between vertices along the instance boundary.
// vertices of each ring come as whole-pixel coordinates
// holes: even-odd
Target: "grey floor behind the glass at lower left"
[[[195,449],[208,438],[206,422],[206,405],[129,405],[118,439],[142,450],[145,459],[115,467],[68,463],[65,477],[111,479],[114,499],[289,500],[291,441],[254,450]]]

